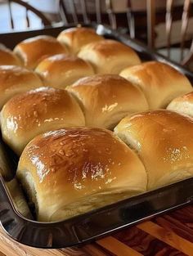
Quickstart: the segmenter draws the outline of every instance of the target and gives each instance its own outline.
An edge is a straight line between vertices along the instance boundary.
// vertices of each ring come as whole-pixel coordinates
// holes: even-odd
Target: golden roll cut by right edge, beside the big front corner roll
[[[130,115],[117,134],[137,152],[148,174],[148,189],[193,176],[193,119],[169,110]]]

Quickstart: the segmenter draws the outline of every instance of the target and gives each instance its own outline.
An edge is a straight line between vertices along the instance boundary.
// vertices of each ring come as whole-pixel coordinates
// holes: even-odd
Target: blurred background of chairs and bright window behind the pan
[[[29,6],[47,21],[43,22]],[[0,33],[95,21],[129,34],[164,55],[168,55],[168,47],[173,48],[169,57],[180,62],[179,47],[186,48],[183,56],[193,52],[192,6],[191,0],[0,0]]]

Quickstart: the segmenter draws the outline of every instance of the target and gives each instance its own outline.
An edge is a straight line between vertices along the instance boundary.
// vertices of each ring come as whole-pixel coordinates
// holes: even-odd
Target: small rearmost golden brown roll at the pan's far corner
[[[63,30],[57,40],[64,44],[70,53],[77,54],[86,44],[98,42],[104,38],[96,34],[94,29],[79,27]]]

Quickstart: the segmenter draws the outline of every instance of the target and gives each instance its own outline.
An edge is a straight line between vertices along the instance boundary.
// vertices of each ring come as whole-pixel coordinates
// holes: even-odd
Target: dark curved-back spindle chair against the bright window
[[[9,13],[8,19],[9,19],[11,29],[16,29],[16,27],[17,27],[16,22],[18,20],[14,19],[14,15],[16,14],[16,12],[13,10],[14,8],[16,8],[16,6],[20,6],[25,9],[24,18],[25,18],[26,28],[31,27],[31,22],[30,22],[30,17],[29,17],[31,13],[33,13],[36,18],[38,17],[41,20],[43,26],[51,25],[51,21],[48,20],[47,17],[44,16],[41,11],[38,11],[37,9],[35,9],[31,5],[29,5],[28,2],[24,2],[21,0],[6,0],[2,4],[3,5],[7,4],[7,6],[8,6],[8,13]]]

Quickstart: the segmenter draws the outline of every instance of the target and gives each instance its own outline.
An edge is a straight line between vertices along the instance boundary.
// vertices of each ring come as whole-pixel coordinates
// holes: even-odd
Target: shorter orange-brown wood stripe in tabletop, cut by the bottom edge
[[[119,240],[112,236],[105,237],[104,239],[96,241],[98,245],[101,245],[105,249],[108,249],[111,253],[117,256],[141,256],[136,250],[124,245]]]

